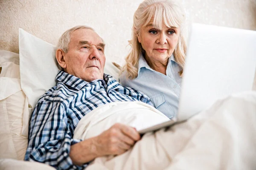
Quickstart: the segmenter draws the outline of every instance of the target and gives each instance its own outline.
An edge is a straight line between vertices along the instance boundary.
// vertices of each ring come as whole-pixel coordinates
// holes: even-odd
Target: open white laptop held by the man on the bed
[[[217,99],[250,91],[256,69],[256,31],[192,24],[177,113],[170,120],[139,133],[186,121]]]

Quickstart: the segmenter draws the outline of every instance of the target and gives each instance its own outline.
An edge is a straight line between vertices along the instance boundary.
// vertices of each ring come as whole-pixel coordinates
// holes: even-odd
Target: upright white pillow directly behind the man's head
[[[56,84],[55,77],[61,68],[55,59],[55,46],[21,28],[19,50],[21,88],[34,108],[38,99]],[[106,62],[104,71],[118,80],[119,70],[111,62]]]

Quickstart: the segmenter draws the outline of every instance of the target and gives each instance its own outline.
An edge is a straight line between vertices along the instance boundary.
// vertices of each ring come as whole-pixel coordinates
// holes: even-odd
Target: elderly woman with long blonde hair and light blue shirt
[[[145,0],[134,14],[131,52],[119,81],[142,91],[169,119],[177,113],[186,44],[177,0]]]

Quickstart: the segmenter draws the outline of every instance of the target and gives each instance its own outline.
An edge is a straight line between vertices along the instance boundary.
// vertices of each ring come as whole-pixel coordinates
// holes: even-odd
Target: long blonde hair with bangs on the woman
[[[126,64],[122,71],[127,71],[126,77],[129,79],[135,79],[138,76],[138,61],[140,54],[145,51],[138,41],[137,35],[140,34],[140,29],[148,25],[152,19],[153,26],[160,30],[163,29],[163,24],[167,27],[180,28],[180,37],[173,54],[176,62],[182,68],[179,72],[182,76],[186,54],[186,42],[183,34],[185,13],[177,0],[145,0],[140,4],[134,13],[132,39],[129,41],[132,48],[125,58]]]

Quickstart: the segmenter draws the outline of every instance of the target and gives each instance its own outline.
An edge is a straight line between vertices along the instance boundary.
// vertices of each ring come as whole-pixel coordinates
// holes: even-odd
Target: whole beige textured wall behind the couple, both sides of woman
[[[0,0],[0,49],[18,53],[18,28],[56,45],[73,26],[88,25],[123,63],[134,11],[143,0]],[[256,30],[256,0],[181,0],[189,21]]]

